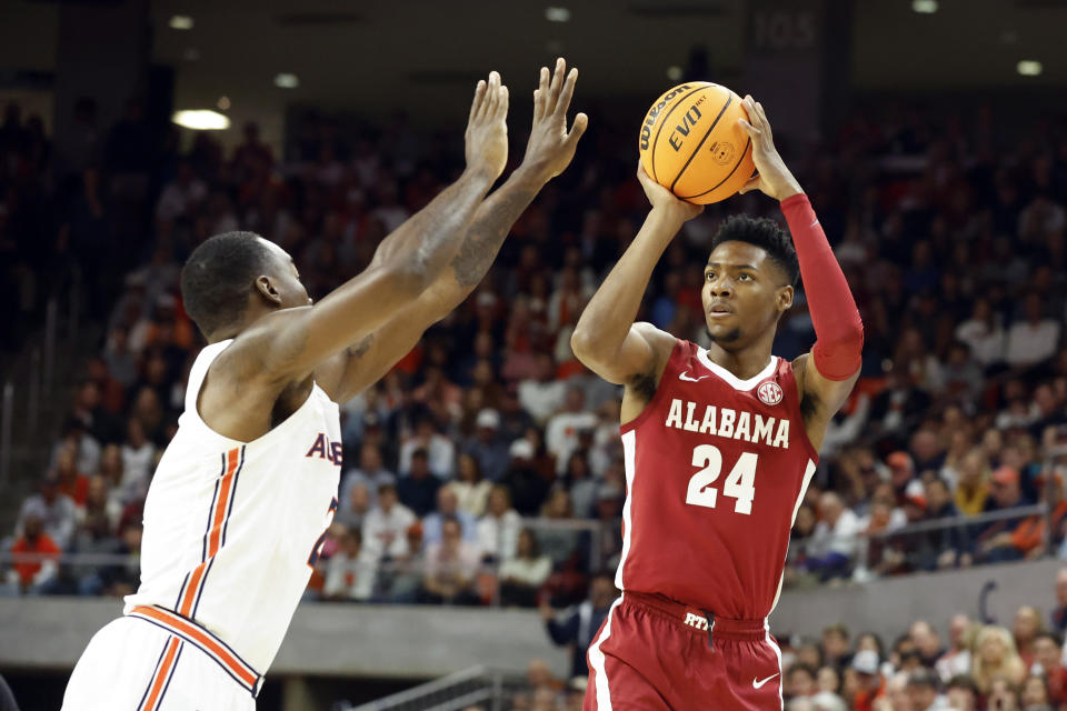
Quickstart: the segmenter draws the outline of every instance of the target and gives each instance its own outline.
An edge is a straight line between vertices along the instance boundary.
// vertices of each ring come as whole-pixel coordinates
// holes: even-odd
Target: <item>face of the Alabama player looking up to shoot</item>
[[[739,350],[775,329],[792,306],[792,287],[767,252],[748,242],[722,242],[704,269],[700,292],[711,340]]]

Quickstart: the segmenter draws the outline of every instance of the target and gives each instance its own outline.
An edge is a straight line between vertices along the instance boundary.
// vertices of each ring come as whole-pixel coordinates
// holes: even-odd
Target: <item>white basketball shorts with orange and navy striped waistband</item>
[[[92,637],[62,711],[255,710],[261,687],[262,677],[206,629],[137,608]]]

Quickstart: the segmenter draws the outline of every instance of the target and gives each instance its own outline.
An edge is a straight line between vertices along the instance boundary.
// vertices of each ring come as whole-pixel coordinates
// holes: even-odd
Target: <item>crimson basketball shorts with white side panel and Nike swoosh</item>
[[[582,711],[780,711],[781,650],[766,620],[711,619],[624,593],[589,645]]]

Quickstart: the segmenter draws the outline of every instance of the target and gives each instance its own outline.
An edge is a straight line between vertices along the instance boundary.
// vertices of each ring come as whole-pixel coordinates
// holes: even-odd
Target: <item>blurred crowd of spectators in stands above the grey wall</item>
[[[144,493],[202,344],[178,290],[192,248],[258,232],[293,256],[319,298],[462,164],[458,133],[402,120],[349,136],[312,117],[279,160],[255,124],[227,153],[208,132],[149,126],[136,101],[107,131],[91,101],[77,112],[83,144],[70,156],[16,106],[0,124],[0,288],[19,289],[21,304],[0,326],[28,328],[47,286],[78,272],[103,327],[38,493],[8,531],[9,550],[46,560],[8,567],[9,592],[137,584]],[[618,561],[619,392],[569,341],[647,203],[631,137],[596,126],[475,294],[342,404],[340,505],[309,598],[561,604]],[[1059,552],[1067,126],[1043,119],[1019,134],[987,110],[880,107],[822,146],[784,151],[866,331],[862,377],[797,512],[787,584]],[[708,344],[701,270],[718,223],[740,211],[780,218],[761,196],[709,207],[661,260],[642,319]],[[776,342],[784,358],[814,341],[798,296]],[[947,517],[973,520],[909,525]],[[49,557],[60,551],[133,558],[59,564]]]

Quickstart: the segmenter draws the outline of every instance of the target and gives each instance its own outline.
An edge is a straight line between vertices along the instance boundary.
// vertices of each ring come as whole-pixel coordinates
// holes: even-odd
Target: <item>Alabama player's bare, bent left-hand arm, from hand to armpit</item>
[[[645,224],[604,280],[578,320],[570,346],[582,363],[598,375],[626,385],[622,421],[627,422],[651,399],[664,373],[675,338],[650,323],[635,323],[641,298],[656,262],[686,220],[700,206],[676,198],[637,170],[652,209]]]

